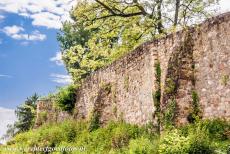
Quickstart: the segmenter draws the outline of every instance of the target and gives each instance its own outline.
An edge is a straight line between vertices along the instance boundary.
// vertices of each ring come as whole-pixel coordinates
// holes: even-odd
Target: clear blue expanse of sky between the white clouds
[[[63,65],[50,60],[59,51],[57,29],[34,27],[31,19],[16,14],[4,16],[6,20],[0,24],[0,29],[19,25],[25,29],[23,33],[39,31],[45,36],[41,40],[27,41],[0,32],[0,106],[15,108],[35,92],[44,95],[62,86],[52,81],[51,74],[66,74],[66,71]]]

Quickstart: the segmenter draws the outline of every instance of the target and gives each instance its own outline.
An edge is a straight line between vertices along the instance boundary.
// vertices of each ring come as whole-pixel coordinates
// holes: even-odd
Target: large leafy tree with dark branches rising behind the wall
[[[218,0],[82,0],[58,40],[75,83],[138,45],[209,17]]]

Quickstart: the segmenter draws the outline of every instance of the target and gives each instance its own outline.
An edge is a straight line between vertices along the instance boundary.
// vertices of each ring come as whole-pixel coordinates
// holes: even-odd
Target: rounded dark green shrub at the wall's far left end
[[[76,89],[74,85],[59,88],[59,91],[55,95],[55,103],[63,111],[73,112],[76,103]]]

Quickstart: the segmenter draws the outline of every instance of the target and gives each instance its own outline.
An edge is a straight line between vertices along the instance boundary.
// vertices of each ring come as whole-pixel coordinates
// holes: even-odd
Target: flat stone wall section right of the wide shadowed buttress
[[[194,50],[203,116],[230,119],[230,13],[201,26]]]

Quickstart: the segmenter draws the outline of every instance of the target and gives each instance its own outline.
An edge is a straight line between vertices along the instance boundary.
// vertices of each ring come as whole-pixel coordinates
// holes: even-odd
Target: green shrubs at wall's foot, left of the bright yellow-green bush
[[[151,143],[151,136],[143,128],[125,123],[112,122],[104,128],[90,132],[86,122],[65,121],[58,124],[45,124],[37,130],[21,133],[8,142],[8,146],[84,147],[85,151],[79,153],[106,154],[110,151],[116,153],[125,151],[125,148],[129,147],[130,140],[137,138],[143,138],[148,141],[146,143]],[[134,147],[134,144],[132,143],[131,147]]]

